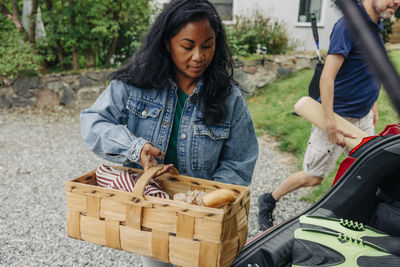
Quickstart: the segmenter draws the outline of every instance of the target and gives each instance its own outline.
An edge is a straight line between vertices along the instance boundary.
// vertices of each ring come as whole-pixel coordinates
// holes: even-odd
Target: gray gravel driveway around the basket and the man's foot
[[[249,238],[260,233],[257,197],[296,171],[293,156],[259,138],[260,157],[251,185]],[[59,108],[0,110],[0,265],[141,266],[137,255],[68,238],[64,182],[104,163],[80,137],[79,113]],[[304,190],[282,198],[275,220],[309,203]]]

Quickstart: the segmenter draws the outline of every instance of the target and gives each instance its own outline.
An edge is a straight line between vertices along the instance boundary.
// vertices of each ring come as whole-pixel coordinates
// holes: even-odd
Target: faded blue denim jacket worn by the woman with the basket
[[[248,185],[258,143],[247,104],[236,86],[227,98],[224,122],[206,126],[195,104],[203,82],[185,102],[178,134],[179,173],[224,183]],[[81,134],[90,150],[104,159],[140,167],[140,152],[150,142],[167,150],[178,101],[171,82],[161,90],[140,89],[113,80],[96,102],[81,112]],[[163,163],[163,159],[157,159]]]

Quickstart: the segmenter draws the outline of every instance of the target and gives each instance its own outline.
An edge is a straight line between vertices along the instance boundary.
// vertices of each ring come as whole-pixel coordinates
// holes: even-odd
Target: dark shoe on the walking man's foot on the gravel
[[[258,198],[258,225],[260,230],[265,231],[274,225],[272,212],[275,208],[276,200],[271,193],[262,194]]]

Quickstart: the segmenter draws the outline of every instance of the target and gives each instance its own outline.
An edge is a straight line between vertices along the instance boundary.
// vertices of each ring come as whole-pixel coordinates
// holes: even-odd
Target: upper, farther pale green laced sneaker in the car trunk
[[[391,254],[400,256],[400,237],[389,236],[377,229],[345,219],[303,215],[299,218],[300,227],[322,229],[343,233],[355,239],[362,239],[378,245]]]

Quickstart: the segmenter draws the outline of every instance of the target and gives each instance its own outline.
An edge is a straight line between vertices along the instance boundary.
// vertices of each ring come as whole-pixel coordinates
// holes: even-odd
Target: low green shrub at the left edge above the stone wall
[[[14,78],[36,74],[40,57],[33,54],[32,45],[23,43],[15,26],[0,15],[0,77]]]

